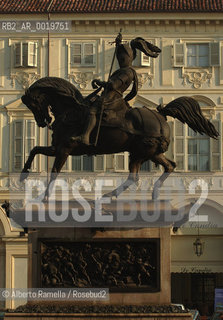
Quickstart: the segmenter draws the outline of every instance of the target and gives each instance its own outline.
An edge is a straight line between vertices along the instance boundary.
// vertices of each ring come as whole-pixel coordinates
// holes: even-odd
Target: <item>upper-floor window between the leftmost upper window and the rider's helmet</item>
[[[72,66],[95,66],[95,43],[71,43]]]

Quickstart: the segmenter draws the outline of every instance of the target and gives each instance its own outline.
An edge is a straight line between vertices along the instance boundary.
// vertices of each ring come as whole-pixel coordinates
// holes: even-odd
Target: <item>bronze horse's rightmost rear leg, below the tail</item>
[[[163,153],[153,156],[151,160],[155,164],[161,164],[164,167],[164,173],[159,177],[159,179],[154,184],[152,199],[156,200],[159,196],[159,190],[162,187],[164,181],[168,178],[171,172],[176,168],[176,163],[167,159]]]

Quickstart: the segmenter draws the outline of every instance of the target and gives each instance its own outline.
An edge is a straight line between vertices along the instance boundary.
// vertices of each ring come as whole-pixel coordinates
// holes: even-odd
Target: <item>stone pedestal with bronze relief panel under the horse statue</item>
[[[30,228],[28,287],[109,288],[109,300],[30,302],[5,319],[191,319],[171,305],[170,226]]]

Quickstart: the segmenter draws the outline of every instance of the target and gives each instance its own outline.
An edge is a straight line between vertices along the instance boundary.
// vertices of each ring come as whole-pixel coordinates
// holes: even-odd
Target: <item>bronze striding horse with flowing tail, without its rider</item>
[[[157,111],[148,108],[133,108],[126,112],[126,122],[133,119],[133,129],[111,126],[102,123],[97,145],[85,145],[70,137],[74,131],[80,135],[84,119],[89,113],[86,99],[70,82],[54,77],[37,80],[22,97],[22,101],[33,112],[37,125],[46,127],[51,122],[49,109],[55,117],[52,124],[52,145],[34,147],[22,170],[21,180],[28,176],[32,161],[37,154],[55,157],[50,182],[56,179],[69,155],[98,155],[128,151],[130,154],[128,179],[107,196],[118,196],[131,184],[138,181],[141,165],[152,160],[164,167],[164,173],[155,183],[152,198],[158,197],[158,190],[173,172],[176,163],[165,156],[170,142],[170,128],[167,116],[187,123],[195,132],[218,137],[218,132],[201,112],[198,102],[190,97],[180,97]],[[50,106],[50,107],[49,107]],[[81,106],[81,108],[80,108]],[[136,115],[131,117],[132,113]],[[138,116],[138,117],[137,117]],[[95,141],[97,128],[92,131],[91,141]]]

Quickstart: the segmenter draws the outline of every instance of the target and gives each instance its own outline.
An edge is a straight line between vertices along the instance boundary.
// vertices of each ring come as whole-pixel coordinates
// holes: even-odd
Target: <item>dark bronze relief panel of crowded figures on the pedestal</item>
[[[42,287],[159,291],[158,239],[70,243],[44,240],[40,247]]]

